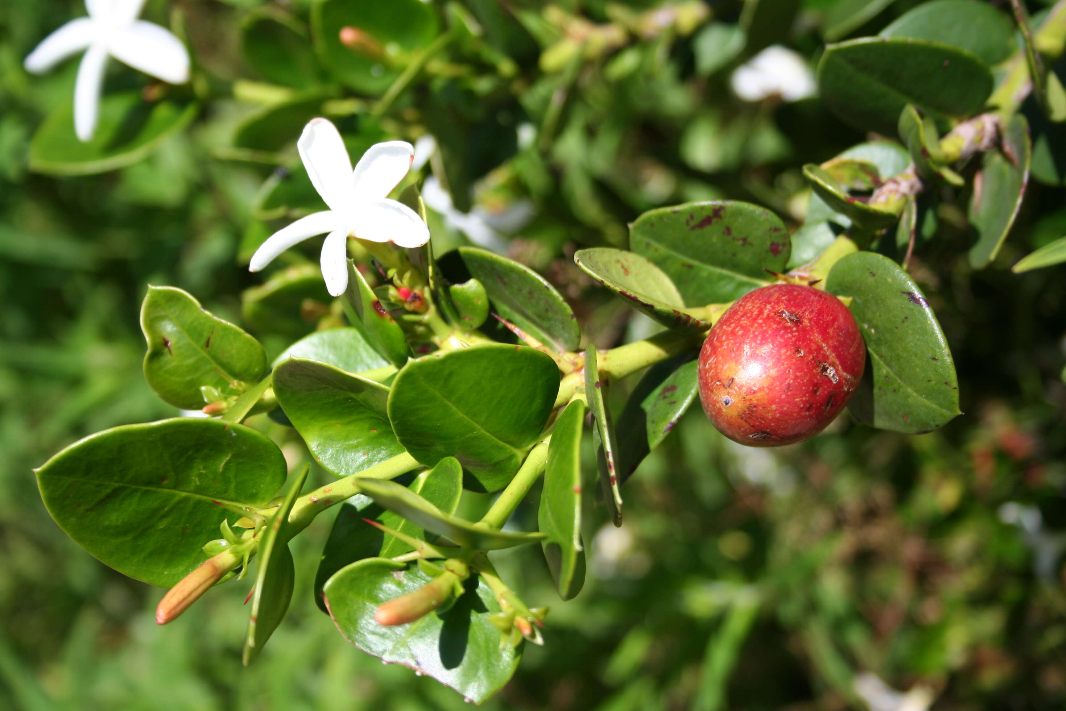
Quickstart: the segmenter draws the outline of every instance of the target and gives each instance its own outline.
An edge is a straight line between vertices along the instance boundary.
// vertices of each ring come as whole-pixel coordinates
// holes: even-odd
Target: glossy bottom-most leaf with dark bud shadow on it
[[[432,612],[398,627],[374,621],[377,605],[430,582],[418,566],[385,559],[353,563],[325,586],[326,604],[341,634],[359,649],[433,677],[475,704],[511,679],[521,647],[500,648],[500,630],[489,617],[500,612],[488,586],[478,578],[446,612]]]

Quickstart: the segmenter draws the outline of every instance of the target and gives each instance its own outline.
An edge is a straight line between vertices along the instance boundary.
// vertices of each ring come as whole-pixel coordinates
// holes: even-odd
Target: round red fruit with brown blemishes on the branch
[[[733,441],[791,445],[833,421],[865,366],[862,335],[839,298],[777,284],[737,300],[711,328],[699,352],[699,400]]]

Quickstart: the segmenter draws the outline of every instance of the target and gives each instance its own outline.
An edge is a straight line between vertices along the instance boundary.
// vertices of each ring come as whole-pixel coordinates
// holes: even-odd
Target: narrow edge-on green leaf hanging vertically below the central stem
[[[548,445],[548,465],[537,521],[548,568],[559,596],[574,598],[585,582],[585,553],[581,545],[581,435],[587,408],[575,400],[555,422]]]

